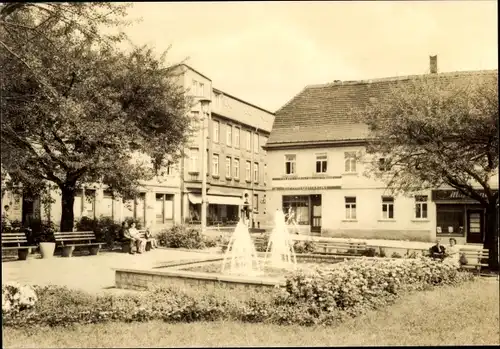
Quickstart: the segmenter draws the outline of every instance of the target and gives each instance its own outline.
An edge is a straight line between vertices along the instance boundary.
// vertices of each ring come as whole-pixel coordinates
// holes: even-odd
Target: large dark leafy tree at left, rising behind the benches
[[[122,52],[115,47],[123,35],[100,34],[120,22],[122,5],[6,8],[0,9],[2,166],[24,188],[57,187],[60,229],[71,231],[79,186],[103,183],[130,198],[141,181],[161,176],[180,156],[191,131],[190,100],[174,71],[163,67],[165,54],[157,59],[147,47]]]

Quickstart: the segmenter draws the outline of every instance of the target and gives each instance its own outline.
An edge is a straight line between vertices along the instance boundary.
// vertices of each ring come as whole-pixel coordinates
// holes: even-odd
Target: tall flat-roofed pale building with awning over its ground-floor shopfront
[[[181,217],[197,222],[201,218],[202,176],[207,162],[207,223],[235,222],[248,201],[255,226],[266,215],[266,152],[274,114],[212,87],[212,81],[183,64],[179,84],[194,100],[209,99],[208,118],[201,103],[195,103],[193,119],[202,119],[180,164]],[[204,130],[203,130],[204,128]],[[203,134],[206,146],[203,147]],[[201,152],[205,149],[206,154]],[[204,156],[203,156],[204,155]]]

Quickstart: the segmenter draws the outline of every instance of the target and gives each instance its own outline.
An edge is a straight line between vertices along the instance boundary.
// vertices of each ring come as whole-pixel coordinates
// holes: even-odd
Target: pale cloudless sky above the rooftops
[[[498,68],[496,1],[134,3],[134,44],[276,111],[306,85]]]

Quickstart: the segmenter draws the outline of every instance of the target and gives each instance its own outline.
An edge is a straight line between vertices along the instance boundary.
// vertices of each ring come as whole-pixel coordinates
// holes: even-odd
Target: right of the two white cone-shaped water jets
[[[274,214],[274,228],[269,237],[265,264],[287,269],[294,269],[297,265],[293,242],[285,223],[285,214],[281,210],[276,210]]]

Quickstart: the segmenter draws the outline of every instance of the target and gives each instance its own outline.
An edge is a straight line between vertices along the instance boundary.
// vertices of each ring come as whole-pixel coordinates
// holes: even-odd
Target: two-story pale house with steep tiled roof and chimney
[[[453,82],[498,71],[437,74],[434,67],[431,73]],[[365,164],[356,157],[366,146],[368,129],[349,110],[412,78],[307,86],[278,110],[265,147],[273,164],[269,212],[291,207],[300,229],[324,236],[422,241],[439,236],[481,243],[487,217],[477,202],[451,188],[392,196],[385,183],[364,175]],[[491,184],[498,188],[498,176]]]

